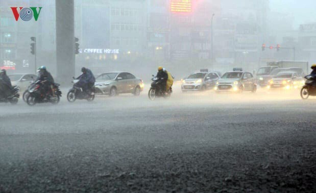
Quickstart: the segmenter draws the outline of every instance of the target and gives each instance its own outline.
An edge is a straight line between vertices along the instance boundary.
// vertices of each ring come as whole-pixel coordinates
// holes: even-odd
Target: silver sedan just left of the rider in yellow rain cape
[[[95,93],[115,96],[119,93],[139,95],[144,88],[143,81],[131,73],[114,71],[96,77]]]

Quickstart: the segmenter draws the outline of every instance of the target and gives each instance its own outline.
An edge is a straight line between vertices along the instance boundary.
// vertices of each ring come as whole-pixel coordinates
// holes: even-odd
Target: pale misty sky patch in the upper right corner
[[[316,22],[315,0],[270,0],[272,12],[289,13],[295,17],[294,27],[306,22]]]

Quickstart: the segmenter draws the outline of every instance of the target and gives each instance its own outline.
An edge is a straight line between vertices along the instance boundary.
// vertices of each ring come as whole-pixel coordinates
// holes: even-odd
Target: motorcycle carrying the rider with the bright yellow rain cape
[[[162,80],[155,77],[153,75],[153,78],[152,78],[152,85],[151,85],[151,88],[149,89],[149,92],[148,92],[148,98],[150,100],[155,100],[156,98],[159,98],[159,97],[163,97],[163,98],[168,98],[171,96],[171,93],[172,93],[172,88],[170,87],[169,90],[167,90],[166,92],[164,92],[162,89],[161,89],[161,83],[162,83]]]

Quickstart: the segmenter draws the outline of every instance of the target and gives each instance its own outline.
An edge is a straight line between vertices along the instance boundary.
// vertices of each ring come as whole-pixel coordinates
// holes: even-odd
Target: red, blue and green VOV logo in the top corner
[[[15,20],[17,21],[19,19],[19,17],[23,20],[23,21],[29,21],[33,18],[35,21],[37,21],[39,13],[41,12],[42,7],[38,7],[39,10],[37,12],[36,8],[37,7],[30,7],[30,8],[23,8],[23,7],[19,7],[20,11],[17,11],[17,7],[10,7],[12,9],[13,15]]]

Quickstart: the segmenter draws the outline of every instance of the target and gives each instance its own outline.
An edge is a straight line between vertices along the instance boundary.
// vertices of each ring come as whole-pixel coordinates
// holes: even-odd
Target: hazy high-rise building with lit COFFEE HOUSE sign
[[[140,56],[147,44],[146,9],[144,0],[75,1],[76,63],[102,68]]]

